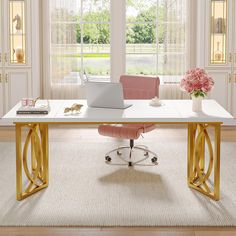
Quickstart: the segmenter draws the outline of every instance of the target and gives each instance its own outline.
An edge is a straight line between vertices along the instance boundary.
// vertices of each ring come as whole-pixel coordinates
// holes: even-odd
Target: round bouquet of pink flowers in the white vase
[[[181,89],[195,97],[205,97],[213,86],[213,79],[200,68],[187,71],[180,82]]]

